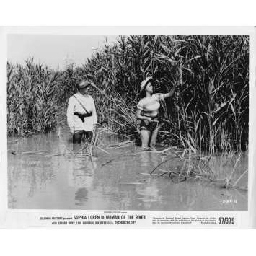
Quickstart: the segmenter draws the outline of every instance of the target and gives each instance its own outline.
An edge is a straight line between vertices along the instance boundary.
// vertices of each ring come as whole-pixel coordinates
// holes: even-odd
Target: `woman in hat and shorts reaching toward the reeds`
[[[137,105],[137,118],[141,120],[141,146],[145,150],[155,150],[156,137],[161,128],[159,120],[160,101],[172,97],[176,85],[168,93],[153,94],[154,79],[150,76],[141,82],[141,100]]]

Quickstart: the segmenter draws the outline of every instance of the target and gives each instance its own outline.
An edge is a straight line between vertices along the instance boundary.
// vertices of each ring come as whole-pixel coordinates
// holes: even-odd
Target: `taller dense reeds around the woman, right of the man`
[[[151,74],[156,92],[178,88],[162,106],[162,141],[194,152],[241,151],[248,143],[248,46],[247,36],[120,36],[87,61],[84,76],[109,99],[104,116],[120,133],[138,136],[139,85]]]

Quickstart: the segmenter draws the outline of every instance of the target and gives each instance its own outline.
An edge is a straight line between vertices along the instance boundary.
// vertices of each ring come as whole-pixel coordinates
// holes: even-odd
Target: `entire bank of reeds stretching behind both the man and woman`
[[[162,106],[162,143],[211,154],[247,149],[247,36],[119,36],[81,67],[53,71],[28,60],[25,66],[8,63],[7,73],[9,135],[55,128],[77,79],[84,78],[94,84],[99,122],[115,133],[139,138],[136,104],[140,83],[150,74],[156,92],[168,92],[177,84],[175,97]]]

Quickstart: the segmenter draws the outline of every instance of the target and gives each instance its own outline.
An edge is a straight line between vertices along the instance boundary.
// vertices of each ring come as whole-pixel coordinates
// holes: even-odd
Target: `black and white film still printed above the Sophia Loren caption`
[[[249,35],[9,34],[9,209],[247,211]]]

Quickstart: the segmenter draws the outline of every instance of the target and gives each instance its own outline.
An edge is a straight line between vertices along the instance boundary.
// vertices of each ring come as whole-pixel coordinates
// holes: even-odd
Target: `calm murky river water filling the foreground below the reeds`
[[[107,136],[104,144],[120,138]],[[247,210],[247,190],[224,189],[208,181],[174,183],[167,177],[146,175],[167,156],[140,151],[133,144],[98,150],[92,157],[70,153],[67,128],[31,137],[8,138],[8,203],[18,209],[88,210]],[[106,152],[107,151],[107,152]],[[107,154],[108,153],[108,154]],[[227,177],[234,162],[229,156],[211,159],[218,177]],[[177,170],[182,162],[173,160],[159,170]],[[244,154],[234,170],[237,178],[247,169]],[[238,182],[247,186],[247,175]]]

